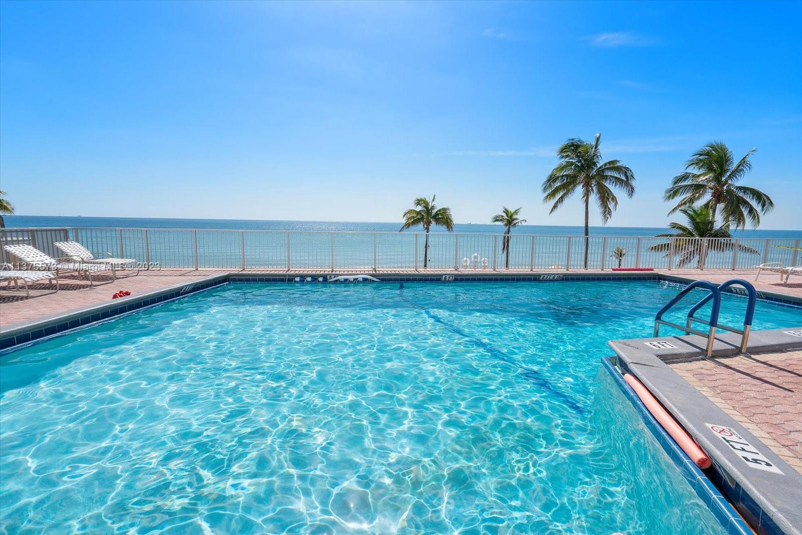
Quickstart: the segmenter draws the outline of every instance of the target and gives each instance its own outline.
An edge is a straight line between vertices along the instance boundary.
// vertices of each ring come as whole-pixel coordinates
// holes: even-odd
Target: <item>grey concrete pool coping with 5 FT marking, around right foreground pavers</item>
[[[752,331],[749,351],[759,354],[800,349],[802,337],[790,334],[793,331],[802,331],[802,327]],[[734,333],[717,336],[714,355],[737,354],[739,341],[740,336]],[[668,342],[673,347],[654,348],[647,345],[650,342]],[[705,338],[691,335],[614,340],[609,344],[618,355],[622,371],[640,379],[712,457],[719,476],[717,484],[759,533],[802,533],[802,475],[667,364],[699,359],[705,342]],[[782,473],[751,468],[739,452],[719,440],[722,437],[710,425],[731,428]]]

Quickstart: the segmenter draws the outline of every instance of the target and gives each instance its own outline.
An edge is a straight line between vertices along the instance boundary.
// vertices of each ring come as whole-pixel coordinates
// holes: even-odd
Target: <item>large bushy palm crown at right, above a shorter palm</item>
[[[721,206],[727,226],[743,229],[748,221],[756,229],[760,225],[760,214],[770,212],[774,202],[759,189],[736,185],[750,171],[749,156],[755,150],[751,149],[735,164],[732,151],[721,141],[700,148],[685,164],[685,172],[674,176],[670,188],[662,196],[664,201],[679,199],[669,214],[707,199],[705,205],[710,209],[711,219],[715,220]]]

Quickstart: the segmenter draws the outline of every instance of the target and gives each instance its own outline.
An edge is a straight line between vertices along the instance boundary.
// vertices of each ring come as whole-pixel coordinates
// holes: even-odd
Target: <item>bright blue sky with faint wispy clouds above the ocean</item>
[[[802,229],[800,2],[2,2],[0,187],[24,215],[549,216],[557,145],[602,133],[662,226],[702,144]],[[591,223],[597,223],[593,214]]]

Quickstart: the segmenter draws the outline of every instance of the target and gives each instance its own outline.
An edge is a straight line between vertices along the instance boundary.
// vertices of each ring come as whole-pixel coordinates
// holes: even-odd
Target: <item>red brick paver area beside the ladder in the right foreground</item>
[[[670,366],[802,473],[802,351]]]

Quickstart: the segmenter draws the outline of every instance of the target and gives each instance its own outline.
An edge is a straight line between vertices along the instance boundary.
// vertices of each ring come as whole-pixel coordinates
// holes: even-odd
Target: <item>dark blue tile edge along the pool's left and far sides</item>
[[[51,317],[38,318],[32,322],[23,322],[20,325],[12,325],[9,329],[0,331],[0,356],[10,351],[17,350],[32,342],[42,341],[51,336],[63,334],[69,330],[117,318],[123,314],[128,314],[135,310],[140,310],[148,306],[170,301],[185,295],[194,294],[197,291],[206,290],[213,286],[220,286],[226,283],[288,283],[288,284],[322,284],[319,282],[294,282],[296,277],[319,277],[320,274],[305,273],[302,271],[293,272],[285,275],[261,275],[229,273],[217,274],[207,278],[199,279],[195,282],[182,283],[170,286],[161,290],[153,290],[147,294],[122,298],[119,301],[103,303],[71,310],[62,314],[54,314]],[[667,274],[640,273],[640,274],[582,274],[582,273],[542,273],[533,272],[532,274],[493,274],[483,276],[473,276],[472,274],[457,273],[453,275],[444,274],[379,274],[381,282],[431,282],[449,284],[452,282],[664,282],[667,284],[683,287],[694,279],[678,277]],[[444,278],[452,277],[452,280]],[[327,284],[327,283],[326,283]],[[340,283],[338,283],[340,284]],[[347,282],[342,284],[349,284]],[[735,289],[729,289],[732,294],[740,295]],[[784,294],[772,294],[759,292],[759,299],[763,299],[780,306],[791,306],[798,308],[802,306],[802,298],[795,298]]]

